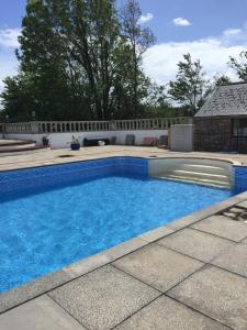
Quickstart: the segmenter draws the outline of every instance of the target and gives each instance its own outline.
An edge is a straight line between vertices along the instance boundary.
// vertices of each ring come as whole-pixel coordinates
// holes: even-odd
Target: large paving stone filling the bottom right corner
[[[237,330],[247,329],[247,279],[206,266],[168,292],[170,297]]]

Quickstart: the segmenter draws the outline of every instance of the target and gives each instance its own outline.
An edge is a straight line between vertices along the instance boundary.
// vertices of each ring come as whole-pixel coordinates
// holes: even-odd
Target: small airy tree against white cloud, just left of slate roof
[[[201,62],[193,62],[190,54],[183,55],[178,68],[177,80],[169,82],[168,94],[193,116],[209,95],[209,82],[204,78]]]

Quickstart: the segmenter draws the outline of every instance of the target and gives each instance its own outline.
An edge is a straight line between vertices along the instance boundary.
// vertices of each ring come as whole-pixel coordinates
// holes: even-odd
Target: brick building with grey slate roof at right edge
[[[247,82],[215,89],[194,116],[194,148],[247,153]]]

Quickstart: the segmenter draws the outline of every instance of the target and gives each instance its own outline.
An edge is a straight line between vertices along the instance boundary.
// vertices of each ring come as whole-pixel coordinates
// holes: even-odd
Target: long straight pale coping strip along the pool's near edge
[[[186,227],[199,222],[210,216],[216,215],[236,204],[247,200],[247,193],[242,193],[217,205],[202,209],[181,219],[175,220],[166,226],[145,232],[137,238],[115,245],[109,250],[89,256],[78,263],[66,266],[34,282],[0,294],[0,314],[15,308],[29,300],[37,298],[48,292],[89,274],[117,258],[127,255],[145,245],[170,235]]]

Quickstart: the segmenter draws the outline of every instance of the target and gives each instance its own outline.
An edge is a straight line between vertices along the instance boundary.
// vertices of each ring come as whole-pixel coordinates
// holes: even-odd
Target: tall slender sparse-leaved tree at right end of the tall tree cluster
[[[142,96],[142,58],[144,53],[155,42],[153,32],[145,28],[143,29],[139,24],[142,11],[136,0],[127,0],[124,6],[122,16],[122,30],[127,42],[131,44],[132,52],[132,72],[133,72],[133,114],[138,116],[138,108],[141,106]]]

